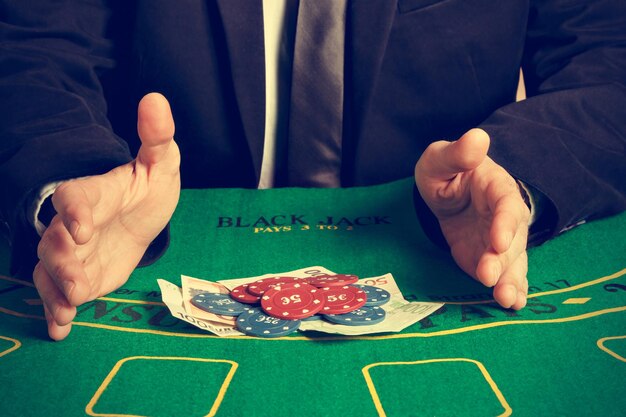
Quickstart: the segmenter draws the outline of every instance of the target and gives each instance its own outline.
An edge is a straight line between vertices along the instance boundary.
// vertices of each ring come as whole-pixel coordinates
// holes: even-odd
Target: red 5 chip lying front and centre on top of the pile
[[[324,296],[322,290],[304,282],[276,285],[261,297],[261,307],[273,317],[304,319],[322,310]]]

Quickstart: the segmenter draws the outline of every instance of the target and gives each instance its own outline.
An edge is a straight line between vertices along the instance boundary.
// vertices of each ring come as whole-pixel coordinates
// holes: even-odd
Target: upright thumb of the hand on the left
[[[141,148],[138,162],[153,165],[167,153],[174,138],[174,118],[167,99],[159,93],[145,95],[139,102],[137,132]]]

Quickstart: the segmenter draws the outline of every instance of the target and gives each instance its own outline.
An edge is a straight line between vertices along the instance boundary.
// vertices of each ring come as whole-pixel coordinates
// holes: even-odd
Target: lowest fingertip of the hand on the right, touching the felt
[[[494,299],[504,308],[519,310],[526,305],[528,295],[528,256],[520,255],[502,274],[493,289]]]

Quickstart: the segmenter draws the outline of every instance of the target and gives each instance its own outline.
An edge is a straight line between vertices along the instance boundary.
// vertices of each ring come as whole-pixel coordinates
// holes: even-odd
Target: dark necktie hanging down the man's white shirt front
[[[346,3],[300,0],[287,145],[292,186],[341,186]]]

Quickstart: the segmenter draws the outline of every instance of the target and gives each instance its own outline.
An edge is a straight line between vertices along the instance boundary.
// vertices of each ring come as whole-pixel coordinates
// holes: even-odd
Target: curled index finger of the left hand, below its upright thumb
[[[93,236],[93,210],[100,200],[97,189],[86,187],[84,181],[61,184],[52,195],[54,209],[74,242],[84,245]]]

